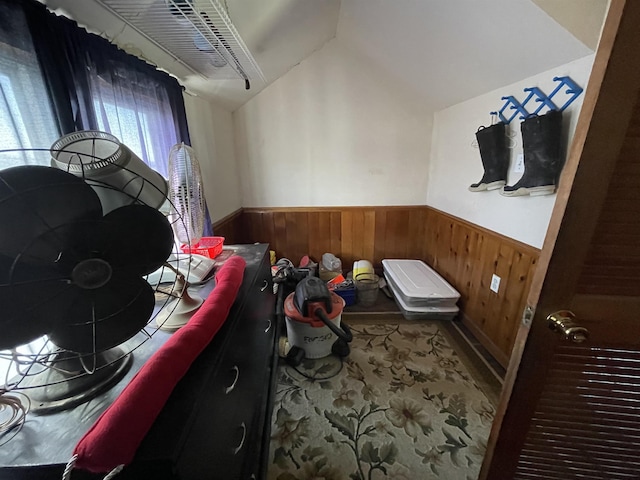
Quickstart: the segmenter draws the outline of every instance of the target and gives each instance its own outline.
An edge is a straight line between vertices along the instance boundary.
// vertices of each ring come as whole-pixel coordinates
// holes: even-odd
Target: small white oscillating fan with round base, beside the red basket
[[[169,220],[177,242],[195,245],[204,230],[204,192],[200,164],[193,149],[184,143],[174,145],[169,151]],[[177,273],[175,300],[171,307],[156,317],[163,330],[176,330],[183,326],[191,314],[203,303],[202,298],[191,296],[189,283]]]

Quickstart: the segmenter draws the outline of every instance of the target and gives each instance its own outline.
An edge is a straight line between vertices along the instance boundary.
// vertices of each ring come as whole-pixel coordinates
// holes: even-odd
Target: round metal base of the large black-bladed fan
[[[21,392],[31,401],[36,415],[68,410],[87,402],[119,382],[129,371],[131,353],[114,347],[95,356],[94,373],[85,373],[77,354],[61,352],[48,368],[20,382]],[[85,360],[93,363],[93,359]]]

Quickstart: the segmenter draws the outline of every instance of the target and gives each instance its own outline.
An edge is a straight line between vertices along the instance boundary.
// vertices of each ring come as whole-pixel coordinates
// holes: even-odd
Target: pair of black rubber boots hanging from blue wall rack
[[[482,179],[469,186],[472,192],[495,190],[507,197],[549,195],[555,191],[563,166],[562,112],[550,110],[533,115],[520,124],[524,173],[515,185],[507,185],[510,151],[506,139],[506,125],[496,123],[480,127],[476,132],[480,157],[484,167]]]

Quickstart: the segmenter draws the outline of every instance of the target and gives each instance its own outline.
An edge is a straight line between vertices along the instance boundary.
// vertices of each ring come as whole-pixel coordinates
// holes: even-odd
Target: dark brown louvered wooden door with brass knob
[[[640,1],[612,0],[482,479],[640,478],[639,91]]]

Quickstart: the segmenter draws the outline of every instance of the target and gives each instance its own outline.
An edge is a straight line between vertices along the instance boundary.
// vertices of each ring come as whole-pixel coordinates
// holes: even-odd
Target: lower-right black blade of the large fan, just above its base
[[[49,339],[77,353],[103,351],[144,328],[154,306],[153,289],[144,279],[114,274],[103,287],[82,290],[66,312],[65,325],[55,327]]]

